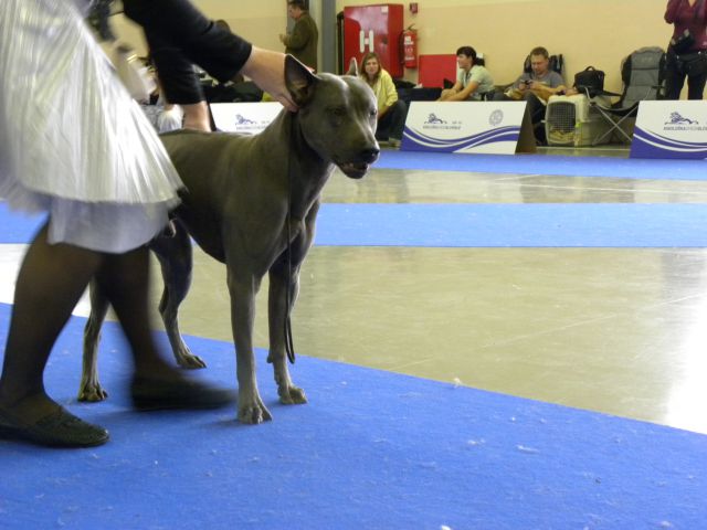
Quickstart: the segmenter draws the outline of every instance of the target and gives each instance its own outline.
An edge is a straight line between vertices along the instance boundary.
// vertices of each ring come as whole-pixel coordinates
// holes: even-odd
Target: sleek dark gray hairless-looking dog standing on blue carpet
[[[304,391],[289,377],[285,330],[298,292],[299,267],[313,243],[321,189],[335,167],[360,179],[379,155],[377,102],[366,83],[350,75],[315,75],[289,56],[285,78],[299,110],[283,110],[260,135],[178,131],[162,136],[187,191],[175,211],[177,233],[151,244],[165,280],[160,315],[177,362],[203,367],[182,341],[177,324],[191,280],[191,236],[226,265],[238,417],[243,423],[272,418],[257,390],[252,340],[255,295],[263,276],[270,274],[267,361],[273,363],[279,401],[306,403]],[[106,311],[107,301],[93,288],[82,401],[107,395],[97,374],[97,343]]]

